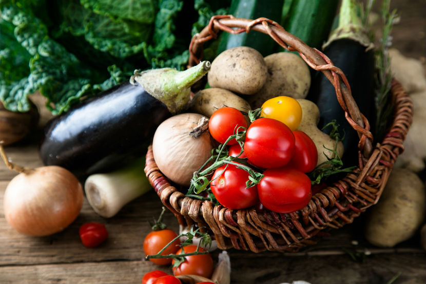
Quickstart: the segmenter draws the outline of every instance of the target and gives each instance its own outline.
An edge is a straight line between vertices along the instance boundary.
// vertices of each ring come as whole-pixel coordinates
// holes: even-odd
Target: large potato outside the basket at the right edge
[[[380,200],[365,224],[365,238],[379,247],[393,247],[411,238],[423,223],[424,183],[408,169],[394,168]]]

